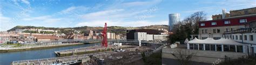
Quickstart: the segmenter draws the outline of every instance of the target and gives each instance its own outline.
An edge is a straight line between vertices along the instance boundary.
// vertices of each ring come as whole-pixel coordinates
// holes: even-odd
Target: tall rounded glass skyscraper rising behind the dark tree
[[[180,21],[180,14],[179,13],[169,14],[169,31],[171,31],[173,25],[177,24],[179,21]]]

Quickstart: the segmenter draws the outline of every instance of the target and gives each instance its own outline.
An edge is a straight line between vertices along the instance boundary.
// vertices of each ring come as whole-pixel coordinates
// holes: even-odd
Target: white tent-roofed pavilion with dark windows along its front
[[[224,38],[219,40],[214,40],[212,38],[200,40],[194,38],[193,40],[188,41],[187,49],[247,53],[247,46],[245,44]]]

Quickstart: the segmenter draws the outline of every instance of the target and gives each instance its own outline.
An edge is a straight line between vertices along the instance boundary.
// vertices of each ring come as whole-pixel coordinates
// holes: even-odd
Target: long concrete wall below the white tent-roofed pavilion
[[[162,58],[166,59],[176,59],[172,55],[180,55],[181,54],[189,55],[192,53],[196,53],[192,56],[191,61],[194,62],[203,62],[203,63],[213,63],[218,59],[224,61],[225,56],[231,57],[231,59],[238,59],[238,57],[247,56],[245,53],[233,53],[233,52],[213,52],[213,51],[204,51],[204,50],[188,50],[188,49],[180,49],[180,48],[163,48],[162,49]]]

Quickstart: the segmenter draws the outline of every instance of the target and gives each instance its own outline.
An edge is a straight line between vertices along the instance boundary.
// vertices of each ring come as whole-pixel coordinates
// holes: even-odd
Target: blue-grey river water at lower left
[[[49,49],[27,50],[27,51],[21,51],[21,52],[0,53],[0,65],[9,65],[11,64],[12,61],[56,57],[54,52],[58,50],[89,47],[89,46],[95,46],[95,45],[99,45],[99,44],[85,44],[85,45],[75,45],[75,46],[66,46],[66,47],[49,48]]]

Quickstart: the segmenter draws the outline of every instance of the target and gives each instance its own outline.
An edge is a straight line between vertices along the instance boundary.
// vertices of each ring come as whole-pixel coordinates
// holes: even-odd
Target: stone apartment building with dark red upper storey
[[[241,13],[241,12],[244,13]],[[223,15],[213,15],[213,20],[199,22],[198,39],[213,38],[215,40],[226,37],[224,32],[245,28],[245,23],[256,20],[256,8],[232,10],[227,13],[223,9]],[[240,13],[239,13],[240,12]]]

